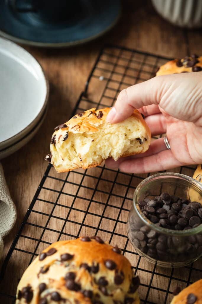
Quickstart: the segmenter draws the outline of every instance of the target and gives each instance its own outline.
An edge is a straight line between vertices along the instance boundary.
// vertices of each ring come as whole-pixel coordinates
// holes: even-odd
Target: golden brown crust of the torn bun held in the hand
[[[106,123],[106,117],[108,115],[108,112],[110,111],[110,108],[105,109],[99,109],[95,110],[89,109],[85,112],[78,113],[77,115],[73,116],[70,120],[68,120],[65,124],[61,125],[58,130],[56,130],[53,133],[53,137],[55,137],[55,142],[51,143],[51,154],[52,159],[51,163],[54,165],[57,172],[67,172],[74,170],[76,168],[93,168],[102,163],[102,161],[106,158],[101,157],[98,161],[91,161],[90,163],[84,163],[81,154],[77,154],[77,157],[75,157],[75,161],[71,163],[69,166],[65,166],[61,164],[58,166],[58,156],[61,157],[62,151],[64,150],[61,148],[64,140],[65,134],[68,134],[68,137],[72,134],[73,136],[76,136],[76,134],[84,134],[84,136],[91,136],[91,134],[95,134],[98,132],[98,136],[100,136],[99,130],[97,127],[102,126],[104,123]],[[151,132],[145,123],[143,117],[141,114],[134,110],[133,114],[130,116],[130,119],[134,119],[134,123],[141,124],[142,132],[145,134],[145,140],[147,140],[147,143],[143,144],[141,148],[139,148],[138,152],[131,151],[125,151],[122,155],[119,155],[119,157],[125,157],[129,155],[134,155],[137,153],[143,153],[145,150],[148,149],[148,146],[151,141]],[[131,122],[133,123],[133,121]],[[109,124],[111,125],[111,124]],[[112,135],[113,136],[113,135]],[[68,141],[69,139],[67,139]],[[57,156],[56,156],[57,155]],[[66,158],[66,155],[62,157],[62,162],[64,162]]]

